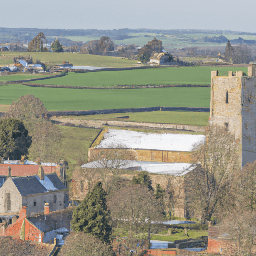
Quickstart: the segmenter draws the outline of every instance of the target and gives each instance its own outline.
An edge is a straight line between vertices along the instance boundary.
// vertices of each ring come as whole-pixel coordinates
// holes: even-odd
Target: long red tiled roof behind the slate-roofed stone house
[[[37,175],[39,165],[30,165],[30,164],[0,164],[0,176],[8,175],[8,167],[12,168],[12,176],[20,177],[20,176],[31,176]],[[56,172],[56,166],[42,166],[44,169],[44,173],[53,173]],[[57,175],[60,175],[59,170]]]

